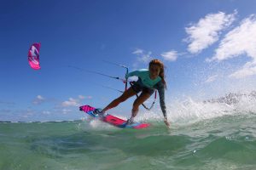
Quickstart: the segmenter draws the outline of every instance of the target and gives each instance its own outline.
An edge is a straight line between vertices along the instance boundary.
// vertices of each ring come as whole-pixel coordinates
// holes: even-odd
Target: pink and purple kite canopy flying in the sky
[[[39,62],[39,51],[40,51],[41,43],[33,43],[32,46],[28,50],[28,63],[34,70],[39,70],[40,62]]]

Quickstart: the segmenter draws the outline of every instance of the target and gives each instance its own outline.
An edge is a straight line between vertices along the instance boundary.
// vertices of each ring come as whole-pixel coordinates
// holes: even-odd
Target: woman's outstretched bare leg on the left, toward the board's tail
[[[126,99],[131,98],[131,96],[137,94],[137,92],[135,92],[131,87],[128,88],[128,90],[126,90],[124,92],[124,94],[122,94],[121,96],[119,96],[119,98],[114,99],[107,107],[105,107],[102,112],[108,111],[109,109],[112,109],[113,107],[116,107],[117,105],[119,105],[119,103],[124,102]]]

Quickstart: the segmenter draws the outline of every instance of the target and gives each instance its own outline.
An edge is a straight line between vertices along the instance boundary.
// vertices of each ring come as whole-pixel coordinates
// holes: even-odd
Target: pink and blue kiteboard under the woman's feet
[[[94,112],[93,112],[96,110],[96,108],[91,107],[90,105],[80,106],[79,109],[80,109],[80,111],[84,111],[88,115],[93,116],[95,118],[99,118],[102,122],[107,122],[115,127],[139,129],[139,128],[145,128],[145,127],[150,126],[149,123],[141,123],[141,122],[134,122],[133,124],[126,125],[125,120],[120,119],[119,117],[116,117],[116,116],[109,115],[109,114],[107,114],[105,116],[98,116],[98,115],[94,114]]]

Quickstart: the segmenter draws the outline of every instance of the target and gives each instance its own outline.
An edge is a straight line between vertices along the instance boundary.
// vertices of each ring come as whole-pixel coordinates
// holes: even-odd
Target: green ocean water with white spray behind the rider
[[[256,169],[253,99],[235,105],[188,99],[138,116],[146,129],[79,122],[0,123],[0,169]]]

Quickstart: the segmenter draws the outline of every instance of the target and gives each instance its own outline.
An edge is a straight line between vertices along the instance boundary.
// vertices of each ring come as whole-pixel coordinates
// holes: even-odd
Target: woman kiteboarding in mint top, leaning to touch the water
[[[128,88],[124,94],[119,96],[119,98],[114,99],[107,107],[102,111],[96,110],[97,114],[103,114],[109,109],[116,107],[119,103],[124,102],[126,99],[131,98],[131,96],[138,94],[142,91],[142,94],[135,99],[133,107],[131,110],[131,118],[127,120],[127,124],[131,124],[134,120],[134,117],[137,116],[139,110],[139,105],[142,105],[152,94],[154,94],[154,89],[158,90],[160,95],[160,107],[164,115],[164,122],[167,127],[170,127],[170,123],[167,121],[166,116],[166,103],[165,103],[165,89],[166,81],[164,75],[164,64],[159,59],[152,59],[149,62],[149,70],[143,69],[139,71],[132,71],[125,75],[125,78],[137,76],[137,82]]]

